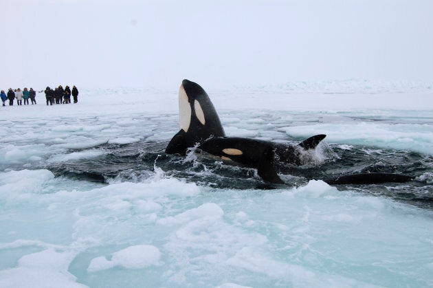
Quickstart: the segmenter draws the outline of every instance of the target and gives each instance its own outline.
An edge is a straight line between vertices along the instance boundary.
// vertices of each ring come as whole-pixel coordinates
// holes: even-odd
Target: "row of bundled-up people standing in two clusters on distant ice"
[[[41,91],[42,92],[42,91]],[[74,98],[74,103],[78,102],[78,89],[77,87],[72,87],[69,89],[69,86],[66,86],[65,89],[63,89],[62,85],[57,87],[56,89],[51,89],[47,87],[45,89],[45,98],[47,99],[47,105],[49,104],[67,104],[71,102],[71,95]],[[9,100],[9,106],[14,105],[14,100],[16,99],[16,104],[22,105],[23,100],[24,104],[29,104],[29,99],[32,100],[32,104],[36,104],[36,91],[33,90],[33,88],[30,88],[30,90],[27,90],[27,88],[24,88],[23,91],[21,91],[21,88],[12,90],[12,88],[9,88],[8,93],[5,93],[4,90],[1,90],[0,92],[0,99],[1,102],[3,102],[3,106],[6,106],[5,102]]]

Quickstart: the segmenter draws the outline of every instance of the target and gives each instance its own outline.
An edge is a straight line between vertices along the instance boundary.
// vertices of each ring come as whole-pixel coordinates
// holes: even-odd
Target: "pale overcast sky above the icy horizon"
[[[0,0],[0,86],[433,80],[432,0]]]

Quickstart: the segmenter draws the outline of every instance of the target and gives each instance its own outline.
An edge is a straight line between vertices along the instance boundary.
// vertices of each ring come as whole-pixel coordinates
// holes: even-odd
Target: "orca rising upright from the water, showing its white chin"
[[[208,93],[195,82],[183,80],[179,88],[180,131],[166,147],[167,154],[186,154],[188,148],[225,132]]]

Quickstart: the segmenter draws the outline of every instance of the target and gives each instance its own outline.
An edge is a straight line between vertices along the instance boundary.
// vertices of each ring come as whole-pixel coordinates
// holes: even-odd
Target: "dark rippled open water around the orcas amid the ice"
[[[293,142],[295,143],[295,142]],[[154,175],[155,167],[168,177],[177,177],[200,186],[220,189],[291,188],[307,184],[310,179],[326,179],[359,173],[397,173],[419,177],[433,173],[433,157],[422,153],[382,150],[368,146],[321,144],[320,160],[306,166],[278,165],[280,177],[286,185],[267,185],[256,175],[256,170],[222,162],[220,159],[195,153],[187,157],[166,155],[168,142],[135,142],[133,144],[104,144],[97,148],[107,151],[92,159],[50,164],[47,168],[56,176],[85,179],[87,181],[143,181]],[[75,152],[71,150],[69,152]],[[82,151],[82,150],[80,150]],[[427,173],[427,174],[425,174]],[[430,182],[430,184],[429,184]],[[432,177],[418,178],[406,183],[339,185],[339,190],[354,190],[396,201],[410,203],[419,208],[433,210]]]

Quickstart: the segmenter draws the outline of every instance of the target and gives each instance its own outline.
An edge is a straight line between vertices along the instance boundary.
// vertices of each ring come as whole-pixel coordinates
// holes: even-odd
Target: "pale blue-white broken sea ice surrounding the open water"
[[[326,133],[327,149],[403,164],[395,153],[416,153],[430,172],[414,189],[429,195],[433,93],[379,87],[208,93],[227,135],[298,142]],[[78,104],[53,107],[42,98],[0,107],[0,287],[433,285],[431,209],[377,195],[375,186],[335,188],[318,179],[260,190],[249,175],[250,186],[230,188],[234,179],[219,176],[224,165],[206,170],[194,158],[180,177],[162,152],[147,168],[124,169],[146,145],[163,151],[179,131],[176,89],[84,90]],[[124,162],[97,167],[111,179],[71,171],[116,151]]]

